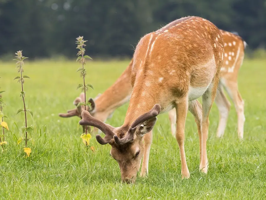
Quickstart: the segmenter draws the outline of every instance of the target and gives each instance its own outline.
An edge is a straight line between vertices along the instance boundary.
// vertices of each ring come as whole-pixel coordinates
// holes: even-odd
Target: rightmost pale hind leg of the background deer
[[[242,99],[239,91],[237,82],[227,81],[226,82],[226,90],[231,97],[237,113],[237,132],[238,138],[243,139],[244,136],[244,123],[245,123],[245,115],[244,115],[244,100]]]

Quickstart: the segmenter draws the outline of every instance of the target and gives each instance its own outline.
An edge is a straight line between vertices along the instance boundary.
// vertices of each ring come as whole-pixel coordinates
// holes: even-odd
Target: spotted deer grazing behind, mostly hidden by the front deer
[[[220,82],[215,102],[220,113],[220,120],[217,129],[217,137],[222,137],[226,128],[226,122],[230,110],[230,102],[227,100],[223,92],[223,87],[228,91],[235,105],[238,116],[238,135],[243,138],[244,133],[244,101],[238,91],[237,76],[244,58],[244,49],[246,42],[233,33],[220,30],[224,41],[224,61],[220,71]],[[130,84],[130,76],[132,70],[133,59],[129,63],[126,70],[121,74],[117,81],[109,87],[102,95],[98,95],[95,99],[90,99],[89,102],[94,105],[90,113],[96,119],[103,122],[106,121],[111,113],[129,100],[132,93]],[[96,100],[100,97],[98,100]],[[76,99],[77,100],[77,99]],[[75,103],[74,103],[75,104]],[[199,105],[200,106],[200,105]],[[201,106],[199,107],[201,109]],[[79,116],[81,118],[81,109],[73,109],[69,113],[59,114],[61,117]],[[169,119],[171,123],[171,132],[175,137],[176,132],[176,110],[173,108],[169,111]],[[97,130],[97,129],[94,129]]]

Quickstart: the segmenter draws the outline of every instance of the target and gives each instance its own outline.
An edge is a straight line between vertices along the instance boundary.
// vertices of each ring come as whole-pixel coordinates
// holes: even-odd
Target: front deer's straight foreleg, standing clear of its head
[[[179,145],[180,157],[181,157],[181,175],[183,178],[189,178],[189,170],[186,164],[186,155],[184,148],[185,140],[185,122],[188,111],[188,99],[184,99],[176,105],[176,140]]]

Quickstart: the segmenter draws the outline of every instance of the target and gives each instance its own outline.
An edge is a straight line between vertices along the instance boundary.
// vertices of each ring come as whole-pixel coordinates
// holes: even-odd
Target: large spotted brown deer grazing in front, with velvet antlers
[[[121,179],[134,182],[143,158],[148,172],[152,136],[159,113],[176,108],[176,140],[181,155],[182,178],[189,178],[184,150],[184,129],[189,110],[200,119],[200,170],[207,173],[209,113],[219,83],[224,43],[219,29],[201,17],[184,17],[140,39],[134,52],[133,87],[124,124],[114,128],[82,111],[81,125],[97,127],[104,134],[96,140],[111,145]],[[197,98],[202,96],[202,115]],[[149,133],[149,134],[147,134]],[[142,137],[144,144],[142,143]]]

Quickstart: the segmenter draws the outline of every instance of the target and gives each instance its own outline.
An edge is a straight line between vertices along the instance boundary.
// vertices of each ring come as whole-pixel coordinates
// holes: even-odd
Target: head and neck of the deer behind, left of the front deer
[[[124,103],[128,102],[132,92],[132,86],[130,84],[130,76],[133,60],[129,63],[129,66],[116,80],[116,82],[109,87],[103,94],[99,94],[93,100],[90,98],[88,102],[91,103],[91,109],[86,108],[90,114],[99,119],[100,121],[106,121],[106,119],[112,115],[116,108],[120,107]],[[77,106],[79,102],[84,102],[84,93],[77,97],[73,104]],[[67,111],[67,113],[60,113],[60,117],[72,117],[78,116],[81,118],[81,112],[84,110],[84,106],[79,106],[75,109]],[[94,129],[96,131],[97,129]],[[84,132],[84,129],[83,129]]]

